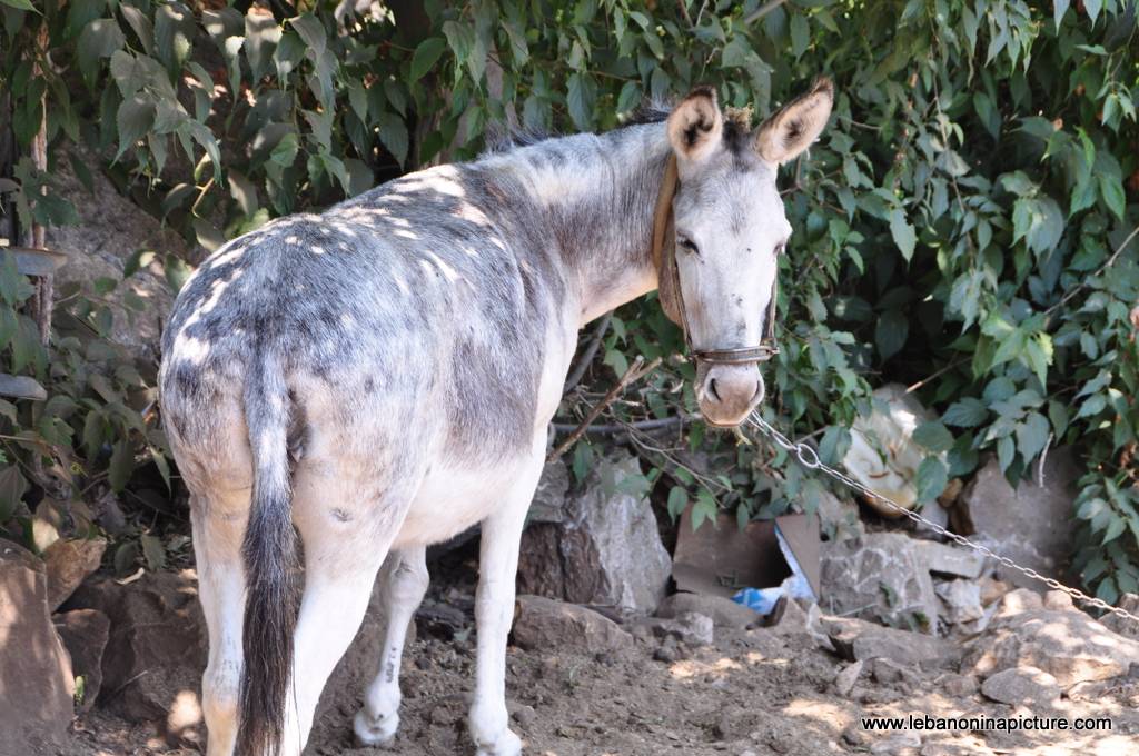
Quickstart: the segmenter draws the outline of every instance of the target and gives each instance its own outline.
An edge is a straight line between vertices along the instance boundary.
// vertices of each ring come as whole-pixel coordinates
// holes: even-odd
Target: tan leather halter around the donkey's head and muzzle
[[[677,266],[675,229],[672,223],[672,199],[677,196],[679,184],[677,156],[669,155],[669,163],[664,169],[664,181],[661,182],[661,192],[656,197],[656,212],[653,215],[653,265],[656,266],[659,281],[661,307],[669,320],[680,326],[685,331],[685,342],[691,348],[688,312],[685,309],[685,297],[680,289],[680,272]],[[666,248],[669,248],[667,254],[665,254]],[[713,364],[748,364],[767,362],[779,354],[779,346],[775,343],[777,294],[778,278],[771,287],[771,302],[768,304],[763,336],[759,344],[722,350],[691,350],[693,356],[700,362]]]

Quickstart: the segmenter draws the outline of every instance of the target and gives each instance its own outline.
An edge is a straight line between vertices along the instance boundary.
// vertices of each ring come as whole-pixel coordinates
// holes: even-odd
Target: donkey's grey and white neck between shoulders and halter
[[[657,287],[656,199],[670,153],[663,123],[577,134],[502,157],[530,194],[580,306],[580,323]]]

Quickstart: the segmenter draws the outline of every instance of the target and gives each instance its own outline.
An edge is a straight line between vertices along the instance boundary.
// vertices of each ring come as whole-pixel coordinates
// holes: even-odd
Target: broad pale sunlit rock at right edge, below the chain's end
[[[1017,593],[1006,595],[1005,603]],[[1139,641],[1116,635],[1082,611],[1026,608],[1002,611],[984,635],[966,643],[961,672],[990,676],[1036,667],[1067,689],[1122,675],[1137,659]]]

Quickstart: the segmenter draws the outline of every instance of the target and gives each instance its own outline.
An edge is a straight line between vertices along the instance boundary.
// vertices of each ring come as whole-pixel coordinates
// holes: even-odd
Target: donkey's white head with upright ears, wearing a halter
[[[669,116],[679,184],[675,249],[659,255],[661,303],[686,330],[696,396],[713,425],[738,425],[763,400],[759,362],[771,354],[778,257],[790,235],[776,171],[816,140],[833,98],[820,80],[754,132],[724,118],[711,88]]]

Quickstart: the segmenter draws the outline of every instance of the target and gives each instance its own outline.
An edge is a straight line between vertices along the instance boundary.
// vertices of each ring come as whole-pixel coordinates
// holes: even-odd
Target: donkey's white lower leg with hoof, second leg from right
[[[393,551],[379,575],[387,626],[379,652],[379,672],[368,685],[363,707],[357,713],[357,738],[368,746],[386,743],[400,726],[400,659],[408,623],[427,592],[427,549],[411,547]]]

